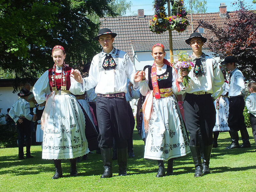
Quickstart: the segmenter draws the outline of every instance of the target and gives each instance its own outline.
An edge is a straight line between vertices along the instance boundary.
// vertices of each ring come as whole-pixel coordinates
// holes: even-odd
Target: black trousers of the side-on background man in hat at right
[[[230,128],[230,131],[246,129],[243,115],[244,106],[243,96],[229,98],[228,127]]]

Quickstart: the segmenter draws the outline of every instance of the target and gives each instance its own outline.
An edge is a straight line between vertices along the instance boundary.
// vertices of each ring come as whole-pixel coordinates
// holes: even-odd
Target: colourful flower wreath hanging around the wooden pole
[[[149,20],[149,28],[152,32],[160,34],[166,30],[184,31],[189,22],[187,20],[187,12],[184,7],[183,0],[171,0],[172,16],[168,17],[165,12],[164,5],[167,0],[154,1],[155,16]]]

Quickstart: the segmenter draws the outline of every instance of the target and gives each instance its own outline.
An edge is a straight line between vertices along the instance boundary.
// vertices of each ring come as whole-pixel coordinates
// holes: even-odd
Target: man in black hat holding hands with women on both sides
[[[93,57],[89,76],[82,78],[77,70],[71,73],[76,81],[83,83],[83,91],[96,86],[100,131],[98,140],[104,166],[104,173],[100,178],[112,177],[113,137],[117,145],[118,175],[127,175],[127,139],[131,130],[125,99],[126,81],[128,77],[132,84],[135,84],[135,80],[138,82],[138,79],[141,79],[129,55],[113,47],[116,35],[108,28],[100,29],[94,40],[99,41],[102,52]]]

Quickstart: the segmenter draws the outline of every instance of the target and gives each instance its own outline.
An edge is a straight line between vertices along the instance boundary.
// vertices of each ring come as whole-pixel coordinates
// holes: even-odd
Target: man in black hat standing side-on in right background
[[[236,60],[233,56],[225,57],[224,61],[220,64],[225,65],[227,70],[230,71],[229,76],[229,115],[228,115],[228,126],[230,128],[231,145],[226,149],[239,148],[239,136],[238,131],[240,130],[243,144],[241,148],[250,148],[251,144],[249,141],[249,134],[244,124],[244,76],[243,73],[236,67]]]

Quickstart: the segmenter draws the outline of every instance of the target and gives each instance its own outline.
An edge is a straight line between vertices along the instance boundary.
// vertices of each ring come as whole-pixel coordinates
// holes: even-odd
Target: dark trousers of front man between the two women
[[[99,125],[99,147],[112,148],[113,137],[117,148],[126,148],[130,136],[130,119],[124,98],[97,97],[96,111]]]

